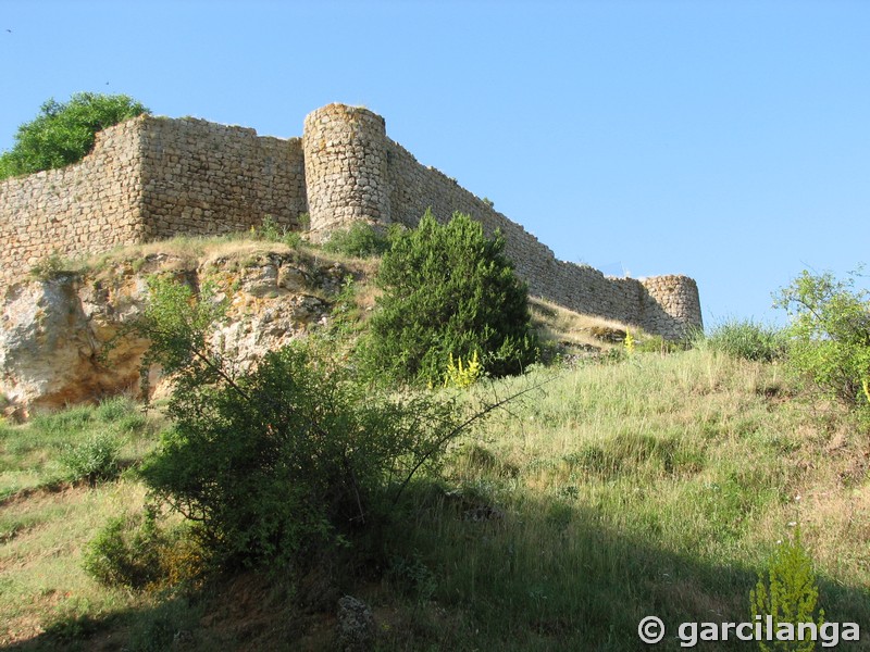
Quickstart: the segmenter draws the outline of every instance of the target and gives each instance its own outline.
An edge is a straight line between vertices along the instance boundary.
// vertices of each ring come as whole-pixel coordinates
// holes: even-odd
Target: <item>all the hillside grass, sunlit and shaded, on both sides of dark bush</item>
[[[709,348],[542,367],[477,385],[470,397],[544,381],[460,442],[442,478],[414,485],[375,567],[327,582],[373,606],[377,650],[638,650],[647,615],[671,632],[657,649],[679,650],[680,623],[748,618],[749,590],[795,522],[826,619],[870,628],[868,434],[859,421],[795,400],[775,363]],[[57,446],[92,429],[125,437],[135,461],[154,441],[136,414],[110,404],[1,426],[2,487],[11,491],[15,473],[45,486],[55,477]],[[2,643],[170,649],[190,631],[190,650],[333,649],[332,615],[296,606],[312,585],[314,595],[328,594],[316,578],[238,576],[187,599],[109,590],[86,577],[87,541],[142,500],[144,488],[122,477],[5,501]]]

